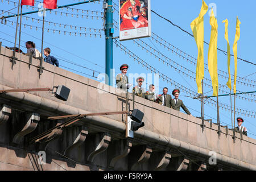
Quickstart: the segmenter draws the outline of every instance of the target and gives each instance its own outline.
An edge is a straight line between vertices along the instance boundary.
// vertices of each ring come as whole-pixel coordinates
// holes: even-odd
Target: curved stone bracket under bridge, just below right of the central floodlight
[[[147,162],[152,153],[152,148],[146,145],[132,147],[129,154],[129,170],[137,170],[137,168]]]

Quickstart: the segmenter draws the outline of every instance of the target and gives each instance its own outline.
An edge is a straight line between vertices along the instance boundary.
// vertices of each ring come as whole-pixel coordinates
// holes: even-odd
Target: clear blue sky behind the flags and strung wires
[[[17,6],[18,0],[1,0],[0,1],[0,14],[1,10],[13,9],[14,2]],[[42,1],[41,1],[42,2]],[[67,5],[70,3],[80,2],[78,0],[67,1],[59,0],[57,5]],[[118,22],[118,0],[113,0],[114,2],[114,14],[113,19]],[[234,43],[234,35],[236,34],[236,17],[240,19],[241,36],[238,40],[238,57],[250,61],[251,63],[256,63],[255,60],[255,11],[254,7],[256,5],[255,1],[205,1],[209,6],[211,3],[214,6],[216,13],[216,19],[218,23],[218,48],[226,51],[226,40],[224,39],[225,26],[222,20],[229,20],[229,42],[230,51],[233,54],[232,46]],[[164,18],[171,20],[174,24],[177,24],[185,31],[192,34],[190,23],[195,19],[201,8],[201,0],[197,1],[151,1],[151,9],[156,13],[162,15]],[[36,2],[35,7],[38,7],[38,2]],[[210,7],[210,6],[209,6]],[[72,11],[73,9],[73,11]],[[77,12],[78,9],[78,12]],[[35,9],[36,10],[36,9]],[[84,10],[84,11],[82,11]],[[209,9],[210,10],[210,9]],[[23,7],[23,12],[32,11],[32,7]],[[62,13],[61,13],[62,12]],[[98,13],[97,13],[98,12]],[[92,78],[97,80],[98,73],[105,73],[105,35],[102,31],[103,21],[102,21],[102,1],[100,3],[85,3],[83,5],[72,6],[68,9],[63,10],[53,10],[51,14],[47,11],[44,32],[44,48],[51,48],[51,55],[55,56],[60,61],[60,68],[67,69],[68,71],[75,72],[79,75]],[[17,13],[17,9],[11,10],[10,13]],[[72,17],[73,14],[73,17]],[[4,15],[7,15],[5,13]],[[77,15],[79,18],[77,18]],[[83,15],[83,18],[82,18]],[[2,15],[1,15],[2,16]],[[42,17],[38,14],[25,15],[28,18],[22,19],[22,46],[21,49],[26,52],[24,48],[25,42],[31,40],[35,42],[36,48],[41,50],[41,39],[42,39]],[[88,16],[88,18],[86,18]],[[93,19],[92,19],[93,16]],[[98,19],[97,19],[98,16]],[[32,18],[34,18],[32,20]],[[0,24],[0,41],[4,46],[13,47],[15,39],[15,22],[16,18],[9,18],[10,22],[5,24]],[[183,89],[180,93],[180,99],[183,100],[184,104],[191,111],[192,115],[200,117],[200,101],[192,99],[195,97],[197,92],[195,78],[196,72],[196,60],[197,58],[197,46],[195,40],[189,36],[184,31],[179,28],[172,26],[171,23],[160,18],[154,13],[151,13],[151,38],[142,38],[136,40],[127,40],[119,42],[117,44],[122,44],[121,47],[126,48],[126,53],[124,50],[121,51],[119,46],[114,43],[113,48],[113,64],[115,69],[115,75],[119,73],[119,67],[122,64],[128,64],[128,73],[138,73],[145,74],[151,73],[150,69],[146,69],[145,65],[138,64],[137,60],[134,60],[133,54],[129,56],[129,51],[133,52],[134,55],[138,56],[140,60],[144,63],[150,65],[151,67],[163,73],[165,76],[171,78],[170,81],[163,80],[159,78],[159,94],[162,93],[164,86],[168,87],[168,94],[171,94],[172,90],[175,88]],[[13,25],[11,22],[14,22]],[[39,22],[39,23],[38,23]],[[49,23],[50,22],[50,23]],[[54,24],[56,23],[56,24]],[[26,24],[26,28],[24,27]],[[64,28],[64,24],[66,24]],[[32,26],[32,27],[30,27]],[[72,28],[71,28],[72,26]],[[114,26],[119,27],[117,23]],[[38,27],[36,30],[36,27]],[[81,27],[81,30],[80,30]],[[86,28],[86,31],[85,31]],[[90,30],[91,28],[91,30]],[[49,32],[48,32],[49,29]],[[208,13],[204,16],[204,40],[209,43],[210,40],[210,24]],[[54,33],[53,33],[53,30]],[[60,34],[59,34],[60,31]],[[64,35],[65,31],[65,35]],[[71,35],[69,35],[72,32]],[[77,32],[76,35],[74,32]],[[81,33],[81,36],[80,36]],[[86,37],[85,37],[86,34]],[[90,37],[92,34],[92,37]],[[95,35],[96,38],[95,38]],[[101,34],[101,37],[100,37]],[[114,29],[114,36],[119,36],[118,28]],[[162,42],[161,42],[162,39]],[[157,40],[157,41],[156,41]],[[18,41],[17,41],[18,42]],[[115,42],[115,40],[114,40]],[[165,45],[165,47],[164,47]],[[171,45],[171,46],[170,46]],[[143,48],[143,49],[142,49]],[[168,50],[169,48],[169,50]],[[156,56],[151,55],[150,51]],[[175,53],[177,52],[177,53]],[[221,51],[218,51],[218,82],[220,84],[219,94],[229,93],[229,89],[225,85],[228,80],[226,73],[227,68],[227,56]],[[189,56],[188,56],[189,55]],[[183,58],[185,57],[185,58]],[[193,58],[191,58],[193,57]],[[207,64],[208,57],[208,45],[204,44],[204,63]],[[160,61],[159,61],[160,58]],[[163,63],[164,60],[164,63]],[[169,63],[168,66],[166,63]],[[255,65],[245,63],[245,61],[237,61],[237,93],[239,92],[251,92],[256,89],[256,75],[255,75]],[[171,67],[172,66],[172,67]],[[84,68],[85,67],[85,68]],[[208,67],[205,67],[205,84],[204,93],[205,96],[211,96],[213,91],[211,88],[210,76],[208,72]],[[234,75],[234,57],[231,57],[230,63],[231,73]],[[94,76],[93,77],[93,71]],[[189,71],[188,71],[189,70]],[[193,72],[193,73],[192,73]],[[154,73],[154,72],[153,72]],[[154,77],[154,76],[153,76]],[[245,78],[243,78],[245,77]],[[243,78],[243,80],[242,80]],[[146,78],[146,80],[148,77]],[[208,79],[208,80],[207,80]],[[131,80],[130,80],[131,81]],[[153,83],[155,80],[153,80]],[[133,83],[135,81],[133,80]],[[179,85],[175,84],[179,83]],[[144,83],[143,86],[148,86]],[[247,85],[248,84],[248,85]],[[176,86],[175,86],[176,85]],[[210,86],[210,87],[209,87]],[[232,82],[233,89],[233,82]],[[185,91],[191,90],[191,92]],[[224,91],[224,92],[222,92]],[[233,93],[233,90],[232,90]],[[240,98],[238,97],[240,96]],[[248,136],[251,138],[256,138],[256,123],[255,123],[255,93],[251,94],[240,94],[236,98],[237,114],[236,118],[242,117],[245,122],[245,126],[248,130]],[[249,99],[249,101],[248,101]],[[215,101],[215,102],[214,102]],[[220,102],[220,122],[221,125],[228,125],[231,128],[231,113],[230,109],[230,96],[219,97]],[[217,111],[216,106],[212,103],[216,103],[216,98],[212,100],[207,100],[204,105],[204,114],[206,119],[212,119],[214,123],[217,122]],[[234,105],[234,97],[232,97],[232,109]],[[229,106],[229,108],[228,108]],[[222,109],[223,107],[223,109]],[[225,109],[226,107],[226,109]],[[181,111],[183,111],[181,109]],[[239,113],[238,113],[239,112]],[[243,113],[243,114],[242,114]],[[245,115],[246,113],[246,115]],[[234,117],[234,115],[232,115]],[[233,118],[234,119],[234,118]],[[237,126],[237,122],[236,122]]]

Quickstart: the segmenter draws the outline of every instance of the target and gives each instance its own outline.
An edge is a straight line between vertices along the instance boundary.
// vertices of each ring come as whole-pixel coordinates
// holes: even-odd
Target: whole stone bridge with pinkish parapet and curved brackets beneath
[[[135,96],[145,126],[125,137],[125,114],[82,118],[31,139],[65,119],[48,117],[125,110],[125,94],[64,69],[1,47],[0,90],[71,89],[67,102],[51,92],[0,94],[0,170],[256,170],[256,140]],[[133,102],[129,95],[129,107]],[[40,158],[39,158],[40,156]]]

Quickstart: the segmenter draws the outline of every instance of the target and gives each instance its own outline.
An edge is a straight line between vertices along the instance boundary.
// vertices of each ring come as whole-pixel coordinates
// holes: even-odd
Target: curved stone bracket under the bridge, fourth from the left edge
[[[73,138],[73,142],[70,146],[68,146],[65,151],[64,155],[69,156],[73,150],[75,150],[76,147],[80,146],[82,143],[84,143],[86,136],[88,135],[88,129],[84,126],[79,127],[79,134],[76,138]]]

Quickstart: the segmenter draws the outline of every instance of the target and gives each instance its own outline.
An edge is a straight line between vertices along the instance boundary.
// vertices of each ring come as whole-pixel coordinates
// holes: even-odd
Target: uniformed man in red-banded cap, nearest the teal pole
[[[117,88],[123,89],[125,91],[127,91],[127,89],[129,89],[129,87],[131,86],[131,84],[129,84],[128,77],[126,76],[128,68],[129,66],[127,64],[121,65],[120,71],[122,73],[119,73],[115,78],[115,81],[117,83]]]

